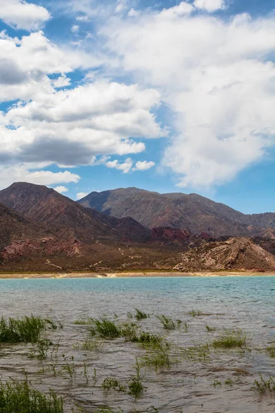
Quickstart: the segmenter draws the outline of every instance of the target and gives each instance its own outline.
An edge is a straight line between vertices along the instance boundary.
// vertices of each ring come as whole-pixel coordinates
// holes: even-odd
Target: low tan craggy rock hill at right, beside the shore
[[[275,256],[248,237],[208,242],[179,255],[178,271],[254,270],[274,271]]]

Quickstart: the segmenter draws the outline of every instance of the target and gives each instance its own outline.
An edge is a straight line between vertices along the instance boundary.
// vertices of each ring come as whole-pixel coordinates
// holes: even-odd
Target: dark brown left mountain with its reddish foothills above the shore
[[[26,260],[30,261],[28,268],[36,265],[45,270],[50,263],[44,257],[50,257],[55,262],[52,266],[89,268],[102,263],[104,257],[108,268],[128,261],[131,267],[154,266],[154,260],[170,254],[169,246],[182,250],[201,242],[201,237],[188,231],[148,229],[130,217],[115,218],[86,209],[41,185],[17,182],[0,191],[0,199],[5,204],[0,209],[0,254],[6,264]],[[159,246],[167,246],[166,253]]]

